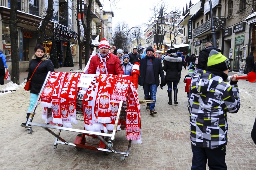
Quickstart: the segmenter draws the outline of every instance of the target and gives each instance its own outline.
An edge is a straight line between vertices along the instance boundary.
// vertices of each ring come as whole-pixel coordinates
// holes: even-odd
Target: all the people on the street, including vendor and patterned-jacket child
[[[174,105],[178,105],[178,83],[181,79],[181,70],[183,67],[185,70],[188,67],[188,74],[183,82],[186,83],[184,91],[187,93],[190,117],[190,140],[193,152],[191,169],[206,169],[207,161],[210,169],[227,169],[225,163],[227,112],[236,113],[240,108],[237,74],[230,77],[230,83],[224,82],[228,78],[229,59],[222,55],[211,42],[206,43],[206,48],[200,51],[199,56],[183,55],[182,52],[175,53],[173,50],[169,50],[165,55],[156,54],[156,49],[152,46],[148,46],[141,56],[137,50],[137,46],[134,46],[130,53],[127,50],[116,49],[115,45],[110,47],[108,41],[102,39],[99,43],[99,53],[90,58],[88,73],[131,76],[133,64],[139,63],[138,84],[143,86],[144,97],[154,100],[146,106],[149,114],[154,116],[157,114],[155,106],[159,86],[163,89],[167,85],[168,104],[172,105],[173,93]],[[0,83],[3,84],[2,75],[5,71],[2,70],[8,68],[2,50],[0,50],[0,57]],[[248,71],[255,71],[253,52],[247,58]],[[61,52],[59,54],[61,66],[62,60]],[[45,54],[45,48],[37,45],[35,55],[30,61],[28,74],[28,80],[31,81],[31,97],[29,109],[26,112],[27,121],[48,71],[54,71],[53,63],[49,55]],[[32,77],[34,73],[36,76]],[[26,127],[26,123],[21,126]],[[256,122],[251,132],[251,137],[256,144],[255,133]]]

